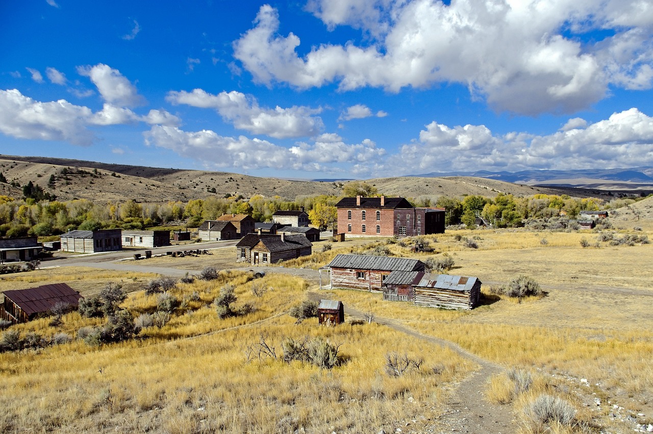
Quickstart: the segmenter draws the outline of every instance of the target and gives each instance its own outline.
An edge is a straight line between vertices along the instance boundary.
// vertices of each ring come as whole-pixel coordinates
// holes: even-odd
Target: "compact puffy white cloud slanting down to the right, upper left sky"
[[[77,72],[91,79],[106,102],[119,106],[138,106],[145,102],[145,99],[138,95],[136,86],[120,74],[119,70],[108,65],[99,63],[93,67],[78,67]]]

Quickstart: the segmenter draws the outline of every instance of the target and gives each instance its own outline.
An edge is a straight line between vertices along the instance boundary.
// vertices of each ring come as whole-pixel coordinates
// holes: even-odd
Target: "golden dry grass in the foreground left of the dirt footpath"
[[[303,281],[266,276],[264,283],[273,289],[257,298],[248,294],[246,278],[244,273],[231,273],[225,281],[237,284],[236,304],[259,302],[263,320],[255,314],[219,320],[213,309],[200,307],[191,315],[175,317],[178,323],[169,330],[146,330],[144,339],[100,348],[73,341],[39,352],[0,354],[4,409],[0,430],[142,431],[150,426],[170,432],[267,433],[300,427],[311,432],[364,432],[370,427],[394,431],[399,421],[417,414],[432,418],[441,386],[473,367],[451,350],[377,324],[327,328],[318,327],[313,318],[296,325],[295,318],[275,315],[304,298]],[[208,301],[219,283],[180,287],[178,295],[198,291],[202,301]],[[142,294],[133,294],[125,303],[133,311],[151,304],[151,297]],[[61,330],[78,327],[80,321],[89,320],[69,314]],[[46,322],[18,328],[43,331],[48,329]],[[173,332],[175,328],[179,331]],[[197,337],[175,339],[180,335]],[[285,337],[304,336],[342,344],[346,363],[322,371],[279,359],[245,362],[247,346],[261,337],[281,356]],[[389,350],[423,358],[424,367],[389,377],[384,373]],[[432,373],[434,365],[443,367],[443,373]],[[413,398],[411,403],[408,397]]]

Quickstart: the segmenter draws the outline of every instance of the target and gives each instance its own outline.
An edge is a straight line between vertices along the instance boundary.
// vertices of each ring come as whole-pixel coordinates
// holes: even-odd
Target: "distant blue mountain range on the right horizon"
[[[584,170],[522,170],[520,172],[430,172],[428,174],[408,175],[421,178],[441,178],[445,176],[473,176],[495,179],[526,185],[588,185],[637,183],[653,185],[653,167],[629,169],[584,169]]]

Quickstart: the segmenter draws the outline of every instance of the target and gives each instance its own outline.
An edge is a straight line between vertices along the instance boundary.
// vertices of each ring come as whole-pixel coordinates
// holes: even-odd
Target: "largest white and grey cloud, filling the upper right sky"
[[[278,11],[264,5],[234,56],[267,85],[396,92],[451,82],[500,111],[573,112],[609,85],[651,86],[652,9],[642,0],[313,0],[308,10],[327,27],[351,25],[373,39],[316,44],[300,56],[300,36],[279,34]],[[590,31],[609,34],[581,42]]]

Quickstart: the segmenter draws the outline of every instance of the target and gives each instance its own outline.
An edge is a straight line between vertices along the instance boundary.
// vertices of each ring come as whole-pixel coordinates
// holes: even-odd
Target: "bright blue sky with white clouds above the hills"
[[[650,0],[0,3],[0,153],[283,178],[653,166]]]

